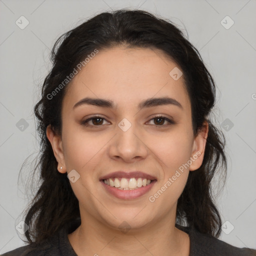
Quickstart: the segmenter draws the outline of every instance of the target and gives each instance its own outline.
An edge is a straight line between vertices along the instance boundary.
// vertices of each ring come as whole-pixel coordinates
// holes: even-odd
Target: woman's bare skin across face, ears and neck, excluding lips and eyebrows
[[[78,256],[170,252],[188,256],[189,236],[174,226],[176,204],[189,171],[202,163],[208,124],[193,135],[183,76],[174,80],[169,75],[176,66],[158,49],[118,46],[100,50],[68,85],[61,109],[62,134],[55,134],[50,125],[46,134],[58,171],[75,169],[80,175],[70,184],[79,201],[81,225],[68,234]],[[162,96],[176,99],[183,108],[173,104],[137,108],[144,99]],[[84,104],[73,109],[84,97],[110,99],[116,107]],[[101,126],[96,120],[89,121],[87,127],[80,123],[94,114],[104,118]],[[157,118],[152,119],[158,114],[175,124],[168,125],[162,119],[158,124]],[[123,118],[131,123],[125,132],[117,125]],[[201,154],[189,168],[150,202],[148,197],[196,152]],[[139,198],[119,199],[106,192],[99,181],[100,176],[117,170],[140,170],[155,176],[157,182]],[[126,233],[118,227],[123,221],[130,227]]]

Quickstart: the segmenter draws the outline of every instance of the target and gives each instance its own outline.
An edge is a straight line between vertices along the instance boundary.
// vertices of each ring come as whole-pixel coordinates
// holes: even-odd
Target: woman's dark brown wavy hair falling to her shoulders
[[[220,235],[221,218],[214,203],[212,178],[217,170],[226,178],[225,139],[207,118],[215,104],[215,84],[196,48],[170,20],[143,10],[120,9],[103,12],[61,35],[51,51],[52,68],[44,79],[41,99],[34,106],[40,136],[39,187],[27,207],[25,232],[29,243],[39,243],[80,216],[66,173],[59,173],[46,127],[61,133],[61,104],[68,83],[53,98],[49,94],[61,84],[76,65],[95,49],[125,45],[162,50],[182,69],[192,110],[194,135],[209,124],[202,165],[190,171],[177,201],[176,223],[193,226],[202,233]],[[52,94],[51,94],[52,95]]]

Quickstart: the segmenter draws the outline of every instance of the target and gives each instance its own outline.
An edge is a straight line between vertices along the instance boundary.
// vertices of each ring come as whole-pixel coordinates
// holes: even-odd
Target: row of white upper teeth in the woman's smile
[[[107,178],[103,180],[105,184],[119,188],[137,188],[141,186],[146,186],[151,182],[151,179],[146,178]]]

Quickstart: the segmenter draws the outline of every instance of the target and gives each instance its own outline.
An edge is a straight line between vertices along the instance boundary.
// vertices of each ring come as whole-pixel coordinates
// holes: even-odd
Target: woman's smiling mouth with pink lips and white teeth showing
[[[135,199],[149,191],[157,179],[140,171],[117,171],[100,177],[99,181],[109,194],[119,199]]]

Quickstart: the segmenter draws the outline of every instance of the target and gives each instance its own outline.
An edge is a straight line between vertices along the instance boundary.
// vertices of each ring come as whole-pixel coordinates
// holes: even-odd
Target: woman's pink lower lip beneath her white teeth
[[[119,199],[135,199],[149,191],[156,182],[156,180],[151,181],[151,183],[146,186],[141,186],[133,190],[121,190],[114,186],[109,186],[105,184],[103,180],[100,180],[100,182],[110,194],[114,195]]]

